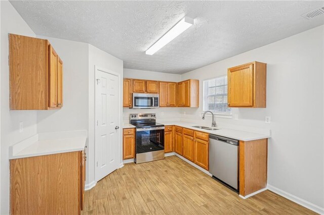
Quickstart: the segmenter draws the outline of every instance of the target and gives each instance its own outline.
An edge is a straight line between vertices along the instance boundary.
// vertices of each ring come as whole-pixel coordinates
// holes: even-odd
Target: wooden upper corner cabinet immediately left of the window
[[[189,79],[178,83],[178,106],[199,107],[199,80]]]

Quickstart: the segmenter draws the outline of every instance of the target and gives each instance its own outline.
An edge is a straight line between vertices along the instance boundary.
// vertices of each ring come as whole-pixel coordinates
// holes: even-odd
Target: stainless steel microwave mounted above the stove
[[[133,109],[159,108],[158,94],[133,93]]]

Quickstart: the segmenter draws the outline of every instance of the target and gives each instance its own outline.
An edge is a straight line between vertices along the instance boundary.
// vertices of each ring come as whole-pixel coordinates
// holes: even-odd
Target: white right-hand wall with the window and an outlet
[[[267,63],[267,108],[234,109],[238,121],[217,122],[270,128],[268,184],[319,207],[324,207],[323,31],[319,26],[181,77],[200,80],[200,108],[187,109],[184,118],[206,123],[200,119],[204,79],[225,75],[236,65]],[[264,123],[265,116],[271,117],[270,125]]]

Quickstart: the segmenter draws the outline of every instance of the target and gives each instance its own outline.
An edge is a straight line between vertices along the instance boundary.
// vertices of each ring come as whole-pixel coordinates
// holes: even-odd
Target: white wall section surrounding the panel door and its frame
[[[99,48],[89,44],[89,148],[87,159],[87,186],[95,183],[95,66],[110,70],[120,74],[120,98],[123,96],[123,61],[113,57],[109,53],[100,50]],[[123,101],[120,99],[120,106],[123,106]],[[120,114],[120,123],[122,123]],[[119,126],[121,127],[121,126]],[[121,130],[120,130],[121,131]],[[121,148],[123,147],[122,132],[119,135],[120,142],[120,160],[123,158]]]

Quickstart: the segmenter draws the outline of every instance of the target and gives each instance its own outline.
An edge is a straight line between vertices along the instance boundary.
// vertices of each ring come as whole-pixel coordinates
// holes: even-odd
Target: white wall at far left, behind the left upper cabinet
[[[8,1],[1,1],[1,214],[9,213],[9,145],[37,132],[36,111],[9,110],[8,33],[35,36]],[[19,133],[19,122],[24,130]]]

